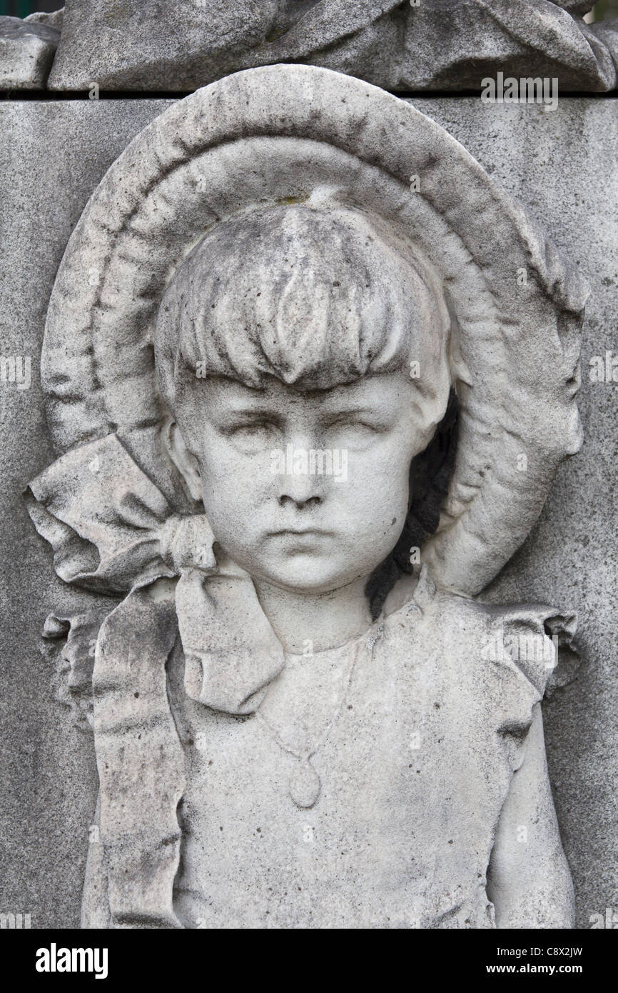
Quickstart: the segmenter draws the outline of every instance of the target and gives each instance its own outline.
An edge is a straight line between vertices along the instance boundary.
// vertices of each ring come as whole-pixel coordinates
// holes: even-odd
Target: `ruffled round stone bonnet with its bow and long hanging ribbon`
[[[176,747],[168,754],[162,746],[156,771],[144,758],[158,825],[152,837],[126,821],[130,780],[104,788],[106,736],[120,719],[114,708],[125,706],[111,706],[109,693],[127,658],[140,687],[131,721],[147,720],[166,741],[169,711],[147,705],[153,682],[165,681],[176,624],[186,692],[206,706],[251,713],[285,663],[251,578],[217,559],[206,517],[187,503],[164,455],[157,310],[205,230],[289,203],[380,218],[447,296],[459,440],[437,530],[422,549],[437,587],[473,596],[489,583],[580,443],[574,396],[586,288],[538,225],[410,103],[339,73],[282,65],[197,90],[134,139],[94,192],[62,259],[42,356],[60,457],[27,493],[62,580],[124,597],[103,623],[93,674],[101,834],[115,867],[109,899],[119,925],[136,914],[176,925],[174,804],[183,778]],[[178,580],[175,606],[150,596],[160,579]],[[159,644],[150,664],[140,648],[145,626],[156,633],[148,644]],[[130,868],[138,837],[150,852],[150,890]]]

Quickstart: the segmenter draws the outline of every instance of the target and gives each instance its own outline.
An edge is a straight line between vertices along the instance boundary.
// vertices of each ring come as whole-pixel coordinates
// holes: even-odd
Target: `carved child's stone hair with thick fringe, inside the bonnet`
[[[437,430],[411,467],[399,542],[369,580],[374,616],[412,571],[410,548],[437,525],[456,428],[449,327],[441,287],[411,245],[384,222],[336,203],[265,207],[221,221],[186,257],[159,309],[157,370],[176,417],[197,376],[255,388],[275,376],[330,389],[410,368],[420,422]]]

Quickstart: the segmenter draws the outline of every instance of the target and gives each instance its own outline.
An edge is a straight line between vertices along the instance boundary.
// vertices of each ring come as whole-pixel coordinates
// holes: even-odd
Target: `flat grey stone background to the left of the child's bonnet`
[[[109,605],[106,597],[78,591],[67,597],[21,496],[54,458],[39,373],[45,315],[66,241],[90,194],[165,106],[162,100],[0,103],[1,351],[31,358],[29,389],[0,384],[0,910],[31,913],[33,928],[79,925],[97,790],[91,735],[73,726],[72,708],[56,699],[63,695],[54,686],[61,642],[42,632],[51,613],[62,618]]]

